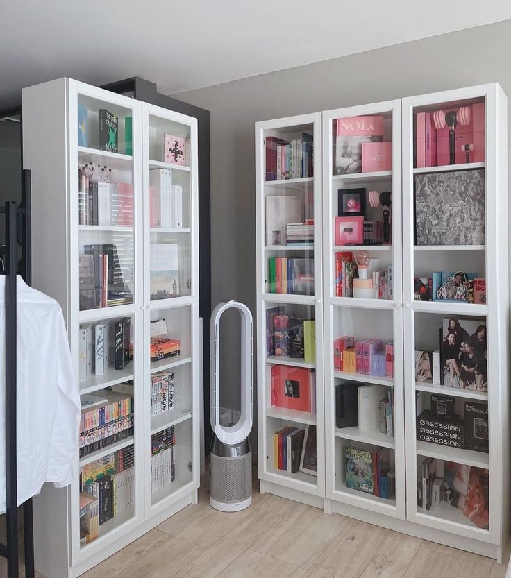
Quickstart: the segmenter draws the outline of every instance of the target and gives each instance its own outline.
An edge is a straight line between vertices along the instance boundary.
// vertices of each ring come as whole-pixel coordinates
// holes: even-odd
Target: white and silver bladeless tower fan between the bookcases
[[[220,318],[227,309],[237,309],[241,316],[242,405],[240,419],[231,427],[220,423],[219,357]],[[252,451],[249,434],[252,429],[252,315],[237,301],[219,303],[211,315],[211,427],[210,504],[213,508],[233,512],[252,503]]]

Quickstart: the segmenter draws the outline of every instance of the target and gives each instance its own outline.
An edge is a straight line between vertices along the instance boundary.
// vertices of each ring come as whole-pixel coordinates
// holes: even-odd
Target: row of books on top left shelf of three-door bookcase
[[[307,178],[314,174],[314,139],[308,133],[291,142],[266,137],[266,180]]]

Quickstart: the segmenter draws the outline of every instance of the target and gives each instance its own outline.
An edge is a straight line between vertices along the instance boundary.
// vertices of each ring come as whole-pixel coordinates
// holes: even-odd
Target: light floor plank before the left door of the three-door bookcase
[[[307,570],[347,521],[343,516],[326,516],[320,509],[296,504],[276,527],[253,545],[253,549]]]

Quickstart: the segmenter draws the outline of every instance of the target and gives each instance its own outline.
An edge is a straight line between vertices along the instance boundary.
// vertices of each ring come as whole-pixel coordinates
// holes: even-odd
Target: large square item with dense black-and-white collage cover
[[[416,245],[485,244],[485,171],[414,177]]]

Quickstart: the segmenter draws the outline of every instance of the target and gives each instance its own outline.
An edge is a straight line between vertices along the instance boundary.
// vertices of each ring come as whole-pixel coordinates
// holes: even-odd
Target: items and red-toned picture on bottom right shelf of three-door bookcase
[[[425,457],[419,472],[419,508],[429,511],[446,503],[460,510],[476,527],[489,529],[488,470]]]

